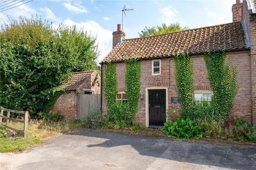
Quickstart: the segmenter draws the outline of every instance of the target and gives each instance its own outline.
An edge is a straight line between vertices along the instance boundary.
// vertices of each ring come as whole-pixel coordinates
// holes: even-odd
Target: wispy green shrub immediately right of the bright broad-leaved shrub
[[[199,123],[202,126],[202,129],[204,131],[205,137],[210,138],[219,138],[222,135],[223,129],[222,129],[222,124],[213,121],[213,120],[208,120],[205,118],[202,122]]]

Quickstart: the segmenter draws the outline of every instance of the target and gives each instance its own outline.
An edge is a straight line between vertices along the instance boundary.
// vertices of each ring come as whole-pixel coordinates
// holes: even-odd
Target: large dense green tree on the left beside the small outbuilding
[[[37,113],[71,72],[97,69],[95,38],[76,27],[54,29],[20,18],[0,31],[0,105]]]

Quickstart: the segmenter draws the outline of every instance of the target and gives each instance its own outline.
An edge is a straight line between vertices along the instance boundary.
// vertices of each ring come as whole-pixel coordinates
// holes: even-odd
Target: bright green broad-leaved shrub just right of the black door
[[[196,125],[195,122],[191,121],[189,118],[186,120],[178,118],[175,121],[165,122],[162,131],[170,138],[197,139],[203,136],[201,126]]]

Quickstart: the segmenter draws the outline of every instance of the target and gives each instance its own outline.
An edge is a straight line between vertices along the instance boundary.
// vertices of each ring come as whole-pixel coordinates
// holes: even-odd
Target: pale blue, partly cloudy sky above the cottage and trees
[[[41,16],[54,27],[59,23],[78,28],[97,37],[100,55],[99,63],[112,48],[112,32],[122,23],[122,9],[133,8],[126,12],[123,21],[125,38],[139,37],[138,32],[147,27],[162,23],[179,22],[189,29],[232,22],[232,4],[235,0],[197,0],[197,1],[73,1],[73,0],[0,0],[0,24],[19,16],[29,18]],[[6,10],[12,3],[26,4]],[[10,4],[7,4],[10,3]],[[6,8],[4,8],[6,7]],[[12,7],[12,6],[10,6]],[[3,8],[3,9],[2,9]],[[2,9],[2,10],[1,10]],[[6,10],[6,11],[3,11]],[[1,12],[3,11],[3,12]]]

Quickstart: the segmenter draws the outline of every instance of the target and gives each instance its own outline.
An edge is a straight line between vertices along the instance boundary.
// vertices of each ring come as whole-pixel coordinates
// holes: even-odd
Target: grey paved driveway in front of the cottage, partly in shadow
[[[74,132],[28,153],[0,155],[1,169],[256,169],[256,145]]]

